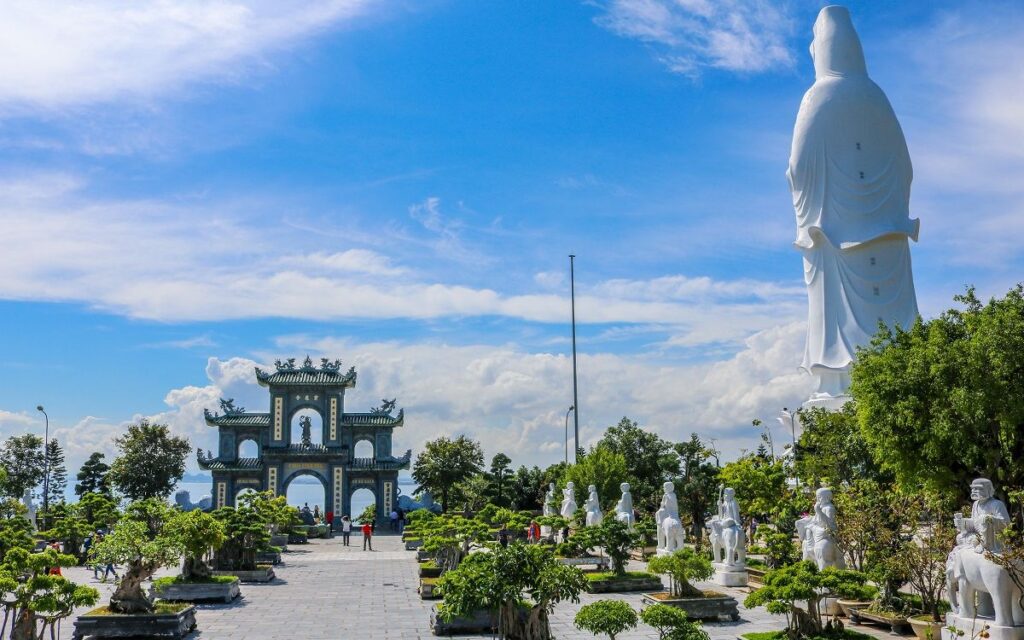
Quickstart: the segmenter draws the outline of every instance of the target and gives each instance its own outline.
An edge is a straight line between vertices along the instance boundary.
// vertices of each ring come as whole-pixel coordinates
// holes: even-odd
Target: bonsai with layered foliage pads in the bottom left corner
[[[4,609],[0,637],[6,635],[8,622],[13,640],[37,640],[47,629],[52,637],[56,625],[75,607],[95,604],[99,592],[92,587],[49,574],[50,567],[75,564],[74,556],[53,549],[29,553],[14,548],[5,553],[0,564],[0,606]]]

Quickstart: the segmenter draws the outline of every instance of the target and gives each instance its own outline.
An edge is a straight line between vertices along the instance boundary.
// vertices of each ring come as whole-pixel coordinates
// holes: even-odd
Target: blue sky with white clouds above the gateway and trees
[[[731,459],[799,406],[784,172],[825,3],[57,0],[0,20],[0,437],[74,475],[147,417],[213,447],[253,367],[359,372],[395,450],[546,465],[623,416]],[[914,165],[926,317],[1024,249],[1024,8],[852,2]],[[194,460],[189,471],[196,471]]]

